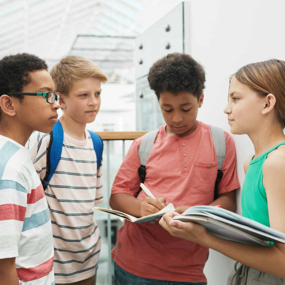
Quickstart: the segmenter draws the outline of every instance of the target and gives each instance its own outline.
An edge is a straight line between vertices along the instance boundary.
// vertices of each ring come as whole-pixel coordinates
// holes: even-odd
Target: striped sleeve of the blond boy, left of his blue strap
[[[40,179],[46,175],[46,153],[50,142],[50,133],[34,132],[26,147],[30,150],[32,162]]]

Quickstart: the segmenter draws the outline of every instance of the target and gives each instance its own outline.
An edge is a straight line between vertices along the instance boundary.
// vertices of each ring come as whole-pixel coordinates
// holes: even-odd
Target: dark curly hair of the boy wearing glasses
[[[0,60],[0,96],[7,93],[22,92],[31,82],[30,72],[48,70],[46,62],[29,53],[4,56]],[[13,96],[13,95],[12,95]],[[15,95],[20,102],[23,95]]]

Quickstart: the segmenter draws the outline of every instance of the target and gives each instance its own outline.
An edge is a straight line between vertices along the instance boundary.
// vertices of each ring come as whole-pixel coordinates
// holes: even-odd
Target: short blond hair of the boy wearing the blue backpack
[[[82,56],[68,55],[55,64],[50,70],[50,76],[57,92],[68,96],[74,79],[86,77],[98,78],[102,83],[107,81],[106,74],[91,60]]]

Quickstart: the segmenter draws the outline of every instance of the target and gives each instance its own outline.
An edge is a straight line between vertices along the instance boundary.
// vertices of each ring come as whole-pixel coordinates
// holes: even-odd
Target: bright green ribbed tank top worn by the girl
[[[285,142],[277,144],[254,160],[253,157],[251,158],[241,192],[242,215],[268,227],[270,227],[270,223],[267,197],[262,183],[262,166],[268,153],[278,148],[281,144],[285,144]]]

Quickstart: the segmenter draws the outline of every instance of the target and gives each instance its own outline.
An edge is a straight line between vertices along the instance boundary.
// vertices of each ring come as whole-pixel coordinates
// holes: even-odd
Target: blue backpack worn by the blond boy
[[[94,150],[97,156],[97,169],[99,168],[102,160],[103,142],[101,138],[92,131],[89,131],[91,139],[93,141]],[[41,179],[42,187],[44,190],[48,186],[50,179],[52,178],[58,162],[60,160],[61,151],[63,145],[63,129],[60,121],[58,121],[50,133],[50,143],[48,144],[48,150],[46,155],[46,176]]]

